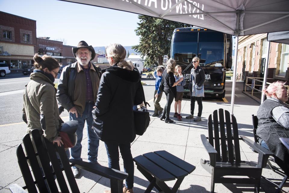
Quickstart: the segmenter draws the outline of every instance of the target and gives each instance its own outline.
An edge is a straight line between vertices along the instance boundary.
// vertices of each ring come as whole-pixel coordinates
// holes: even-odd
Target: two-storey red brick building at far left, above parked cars
[[[0,11],[0,62],[11,73],[33,63],[36,45],[36,20]]]

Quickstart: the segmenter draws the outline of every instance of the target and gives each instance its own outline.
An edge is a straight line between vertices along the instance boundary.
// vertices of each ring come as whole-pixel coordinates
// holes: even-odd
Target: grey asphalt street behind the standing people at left
[[[60,74],[58,74],[59,77]],[[23,122],[23,92],[25,85],[29,81],[29,75],[24,76],[22,73],[7,74],[6,77],[0,78],[0,100],[1,109],[3,110],[0,114],[0,125]],[[55,83],[58,83],[58,81],[59,79],[55,79]],[[142,78],[141,82],[145,83],[144,94],[146,101],[150,101],[154,95],[155,79]],[[153,102],[150,102],[150,105],[153,105]],[[68,112],[64,111],[61,117],[67,117],[68,115]]]

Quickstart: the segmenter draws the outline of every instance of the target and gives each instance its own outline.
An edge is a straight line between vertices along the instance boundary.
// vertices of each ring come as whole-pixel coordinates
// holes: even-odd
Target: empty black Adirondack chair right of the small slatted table
[[[212,175],[211,192],[214,192],[215,183],[254,184],[254,192],[259,192],[262,169],[266,167],[268,157],[272,153],[247,137],[239,137],[234,115],[232,115],[231,122],[231,115],[228,111],[225,111],[224,117],[223,109],[215,110],[213,120],[212,115],[208,118],[208,137],[201,135],[201,140],[210,156],[210,160],[201,159],[200,161],[201,166]],[[239,140],[259,152],[256,166],[241,161]]]

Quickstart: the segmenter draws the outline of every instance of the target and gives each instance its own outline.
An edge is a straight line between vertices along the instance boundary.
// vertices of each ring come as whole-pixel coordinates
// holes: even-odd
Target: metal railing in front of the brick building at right
[[[262,86],[263,86],[263,79],[264,78],[258,78],[258,77],[246,77],[246,84],[245,84],[245,92],[250,92],[252,97],[256,97],[253,94],[256,95],[258,93],[260,96],[262,94]],[[267,80],[274,80],[273,78],[267,78]],[[266,82],[266,85],[270,85],[271,82]],[[284,85],[287,88],[287,95],[289,93],[289,86]],[[257,95],[258,95],[257,94]],[[256,97],[261,100],[261,98]]]

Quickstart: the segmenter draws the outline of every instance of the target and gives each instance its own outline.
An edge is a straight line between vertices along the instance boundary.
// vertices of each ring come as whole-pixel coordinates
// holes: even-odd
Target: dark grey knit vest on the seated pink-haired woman
[[[285,106],[266,99],[259,107],[257,112],[258,128],[257,135],[263,139],[268,145],[269,150],[281,160],[288,160],[289,151],[279,140],[279,137],[289,137],[289,130],[284,129],[279,123],[277,123],[272,117],[272,110],[278,106]]]

